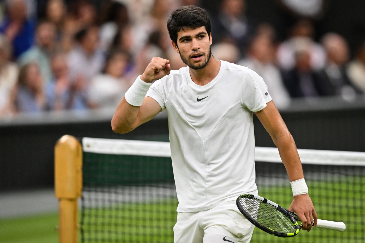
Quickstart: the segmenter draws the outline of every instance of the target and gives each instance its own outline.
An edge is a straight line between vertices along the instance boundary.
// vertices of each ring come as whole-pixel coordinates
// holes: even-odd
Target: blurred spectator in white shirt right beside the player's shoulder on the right
[[[247,57],[238,64],[249,67],[260,75],[277,108],[290,104],[290,95],[285,88],[280,70],[274,65],[275,46],[269,33],[257,34],[248,47]]]

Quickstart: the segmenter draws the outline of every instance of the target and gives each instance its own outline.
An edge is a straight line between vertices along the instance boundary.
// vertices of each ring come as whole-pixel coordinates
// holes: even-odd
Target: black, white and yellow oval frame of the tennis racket
[[[268,204],[272,208],[274,208],[277,211],[279,211],[280,213],[282,213],[285,217],[287,217],[293,223],[293,226],[295,227],[296,231],[293,232],[293,233],[284,233],[284,232],[276,231],[274,229],[270,229],[269,227],[266,227],[266,226],[260,224],[258,221],[253,219],[250,216],[250,214],[246,212],[245,209],[243,209],[243,207],[241,206],[241,203],[240,203],[241,198],[249,198],[249,199],[256,200],[258,202]],[[263,231],[265,231],[265,232],[267,232],[271,235],[275,235],[275,236],[279,236],[279,237],[293,237],[293,236],[296,236],[299,233],[299,231],[302,227],[302,225],[301,224],[299,225],[297,220],[295,219],[295,216],[296,216],[295,214],[293,214],[292,212],[288,211],[287,209],[281,207],[280,205],[276,204],[275,202],[270,201],[270,200],[268,200],[264,197],[260,197],[260,196],[253,195],[253,194],[242,194],[237,198],[236,204],[237,204],[237,207],[238,207],[239,211],[243,214],[243,216],[246,217],[247,220],[249,220],[257,228],[259,228],[259,229],[261,229],[261,230],[263,230]]]

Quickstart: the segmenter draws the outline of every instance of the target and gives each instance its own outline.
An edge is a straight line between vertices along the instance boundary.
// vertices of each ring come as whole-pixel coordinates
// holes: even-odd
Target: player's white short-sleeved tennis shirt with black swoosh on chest
[[[210,209],[257,190],[252,115],[271,97],[257,73],[220,62],[207,85],[196,85],[183,67],[147,92],[168,113],[177,212]]]

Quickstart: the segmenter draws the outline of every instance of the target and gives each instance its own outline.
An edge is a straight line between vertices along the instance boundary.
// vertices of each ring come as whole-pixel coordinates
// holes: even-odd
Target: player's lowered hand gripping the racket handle
[[[303,230],[310,231],[314,219],[314,225],[317,226],[317,213],[314,209],[311,198],[307,194],[294,196],[289,211],[295,212],[303,223]]]

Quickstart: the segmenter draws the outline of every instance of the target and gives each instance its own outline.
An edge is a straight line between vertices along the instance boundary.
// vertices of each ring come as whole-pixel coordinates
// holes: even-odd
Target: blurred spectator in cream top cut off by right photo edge
[[[355,59],[349,63],[347,74],[352,84],[365,93],[365,42],[358,48]]]

